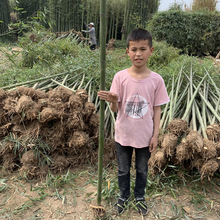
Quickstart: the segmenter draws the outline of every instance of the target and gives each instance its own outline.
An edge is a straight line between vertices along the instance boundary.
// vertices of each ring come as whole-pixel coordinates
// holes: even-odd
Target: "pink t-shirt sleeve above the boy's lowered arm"
[[[162,77],[159,77],[157,88],[154,94],[154,106],[164,105],[170,101],[166,86]]]

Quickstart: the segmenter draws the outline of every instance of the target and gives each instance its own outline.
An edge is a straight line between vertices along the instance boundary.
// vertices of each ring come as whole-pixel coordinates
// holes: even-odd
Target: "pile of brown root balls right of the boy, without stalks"
[[[149,160],[152,173],[163,172],[168,165],[189,171],[196,168],[201,179],[220,172],[220,125],[209,125],[206,133],[208,138],[203,138],[198,131],[191,130],[185,120],[172,120],[160,135],[159,147]]]

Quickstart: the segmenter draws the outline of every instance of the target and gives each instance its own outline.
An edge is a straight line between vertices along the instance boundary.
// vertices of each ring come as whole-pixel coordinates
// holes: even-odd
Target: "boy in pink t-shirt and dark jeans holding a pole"
[[[118,162],[120,197],[115,204],[121,214],[130,197],[130,167],[135,150],[136,182],[134,196],[140,214],[147,214],[145,187],[148,160],[157,147],[161,105],[169,102],[162,77],[146,66],[153,53],[152,36],[142,28],[127,37],[127,53],[132,66],[114,76],[110,91],[99,91],[102,100],[118,111],[115,123],[115,145]]]

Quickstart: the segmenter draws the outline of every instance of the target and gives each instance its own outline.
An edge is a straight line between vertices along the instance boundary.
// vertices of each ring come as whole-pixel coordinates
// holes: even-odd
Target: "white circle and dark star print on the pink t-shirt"
[[[148,102],[138,93],[128,98],[125,104],[125,113],[127,117],[142,118],[148,111]]]

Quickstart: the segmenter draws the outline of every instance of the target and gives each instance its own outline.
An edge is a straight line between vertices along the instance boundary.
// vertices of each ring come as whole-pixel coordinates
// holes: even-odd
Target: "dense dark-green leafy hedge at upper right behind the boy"
[[[161,12],[152,18],[148,27],[157,40],[164,40],[190,55],[215,56],[220,50],[220,14],[217,12]]]

